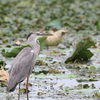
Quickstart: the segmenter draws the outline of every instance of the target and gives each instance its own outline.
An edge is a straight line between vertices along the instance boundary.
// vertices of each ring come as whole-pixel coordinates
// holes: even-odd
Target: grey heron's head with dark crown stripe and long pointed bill
[[[52,36],[53,34],[51,33],[41,33],[38,31],[32,31],[31,33],[29,33],[29,35],[27,36],[27,39],[32,38],[32,39],[38,39],[44,36]]]

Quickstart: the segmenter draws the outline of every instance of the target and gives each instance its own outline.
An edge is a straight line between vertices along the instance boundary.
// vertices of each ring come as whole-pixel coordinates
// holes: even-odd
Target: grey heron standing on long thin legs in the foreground
[[[20,51],[20,53],[15,57],[12,63],[12,66],[9,70],[9,80],[8,80],[8,85],[7,85],[7,91],[13,92],[17,84],[19,84],[18,100],[20,99],[20,83],[24,81],[26,78],[27,78],[26,94],[27,94],[27,100],[29,100],[29,97],[28,97],[29,76],[32,73],[32,70],[36,62],[36,57],[38,56],[39,51],[40,51],[40,45],[37,39],[42,36],[52,36],[52,34],[32,31],[27,36],[28,44],[31,47],[26,47]]]

